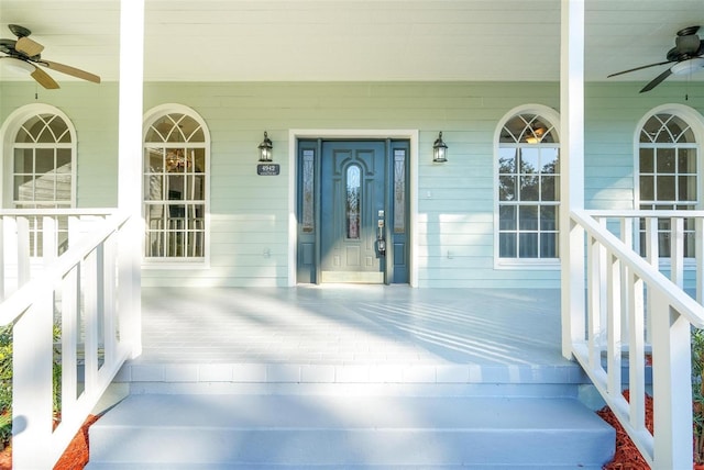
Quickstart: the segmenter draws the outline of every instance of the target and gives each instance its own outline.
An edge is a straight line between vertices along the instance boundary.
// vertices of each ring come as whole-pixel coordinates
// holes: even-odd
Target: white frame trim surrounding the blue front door
[[[410,287],[418,286],[417,264],[417,220],[418,220],[418,130],[315,130],[293,128],[288,131],[288,287],[296,286],[296,242],[298,221],[296,216],[298,165],[298,139],[406,139],[409,141],[410,158],[408,161],[408,211],[409,211],[409,276]]]

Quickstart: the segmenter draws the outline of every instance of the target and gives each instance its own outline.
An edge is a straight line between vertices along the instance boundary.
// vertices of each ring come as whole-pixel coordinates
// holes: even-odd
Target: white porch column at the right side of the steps
[[[562,355],[584,332],[584,237],[570,222],[584,209],[584,0],[562,0],[560,47],[560,258]]]

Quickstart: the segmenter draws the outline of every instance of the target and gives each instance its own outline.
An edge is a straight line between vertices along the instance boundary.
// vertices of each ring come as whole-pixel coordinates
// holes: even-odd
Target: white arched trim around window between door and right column
[[[529,270],[560,270],[560,256],[557,258],[501,258],[498,256],[498,153],[501,147],[501,133],[506,123],[514,116],[518,114],[537,114],[540,118],[548,121],[556,134],[559,138],[559,146],[562,145],[562,139],[560,138],[560,113],[558,113],[552,108],[546,107],[544,104],[522,104],[508,111],[504,116],[498,121],[496,128],[494,131],[494,155],[493,155],[493,172],[492,177],[494,179],[494,269],[529,269]],[[563,157],[563,153],[560,152],[560,158]],[[560,178],[565,178],[566,175],[560,170]],[[562,194],[560,194],[560,203],[557,204],[557,208],[560,208],[562,203]],[[558,227],[560,224],[558,223]],[[558,232],[559,239],[559,232]]]

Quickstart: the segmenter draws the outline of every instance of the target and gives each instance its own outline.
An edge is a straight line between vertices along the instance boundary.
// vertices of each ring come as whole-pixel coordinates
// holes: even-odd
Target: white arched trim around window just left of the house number
[[[142,121],[142,166],[140,168],[142,179],[140,181],[140,192],[141,192],[141,214],[142,219],[144,219],[144,139],[146,137],[146,133],[150,130],[150,126],[160,118],[166,114],[186,114],[201,126],[205,138],[205,147],[206,147],[206,182],[205,182],[205,205],[206,213],[204,216],[204,253],[205,256],[202,258],[185,258],[185,259],[174,259],[174,258],[146,258],[142,259],[142,268],[143,269],[175,269],[175,270],[186,270],[186,269],[209,269],[210,268],[210,128],[208,124],[202,119],[202,116],[196,112],[193,108],[189,108],[179,103],[165,103],[154,107],[144,113],[144,118]],[[140,249],[144,249],[141,247]]]

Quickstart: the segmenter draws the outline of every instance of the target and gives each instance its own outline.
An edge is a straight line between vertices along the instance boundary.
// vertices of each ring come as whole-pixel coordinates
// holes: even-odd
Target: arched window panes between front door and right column
[[[531,110],[532,111],[532,110]],[[538,112],[509,115],[498,134],[497,258],[557,260],[560,144],[552,121]]]

